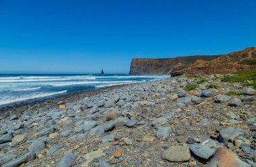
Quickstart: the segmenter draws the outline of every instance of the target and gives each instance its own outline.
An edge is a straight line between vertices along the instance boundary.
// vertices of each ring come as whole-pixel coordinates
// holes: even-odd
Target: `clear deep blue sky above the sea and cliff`
[[[0,0],[0,71],[128,73],[256,46],[255,0]]]

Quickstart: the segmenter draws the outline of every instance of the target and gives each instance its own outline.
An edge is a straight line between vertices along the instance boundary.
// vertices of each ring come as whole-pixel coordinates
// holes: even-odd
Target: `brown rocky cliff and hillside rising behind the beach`
[[[256,69],[256,47],[227,55],[133,59],[130,75],[181,75],[183,73],[231,73]]]

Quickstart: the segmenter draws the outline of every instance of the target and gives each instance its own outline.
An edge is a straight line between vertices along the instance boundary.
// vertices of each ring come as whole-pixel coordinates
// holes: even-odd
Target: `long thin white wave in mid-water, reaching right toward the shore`
[[[69,82],[51,82],[45,83],[49,86],[73,86],[73,85],[86,85],[86,84],[112,84],[112,83],[127,83],[137,81],[69,81]]]

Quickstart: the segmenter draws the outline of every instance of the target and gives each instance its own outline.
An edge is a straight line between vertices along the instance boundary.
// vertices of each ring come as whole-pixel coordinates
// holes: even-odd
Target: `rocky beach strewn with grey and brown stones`
[[[0,166],[256,166],[255,89],[224,76],[0,108]]]

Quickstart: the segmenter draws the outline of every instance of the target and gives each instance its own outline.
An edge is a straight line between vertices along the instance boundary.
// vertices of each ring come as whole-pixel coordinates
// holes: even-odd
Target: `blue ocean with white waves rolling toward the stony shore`
[[[0,74],[0,106],[108,86],[164,79],[166,75]]]

